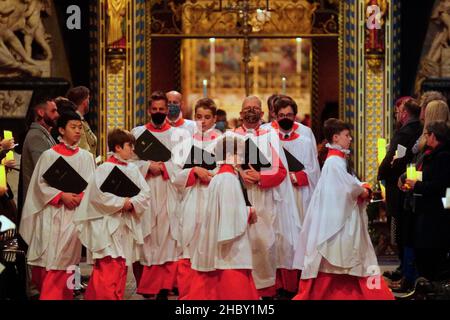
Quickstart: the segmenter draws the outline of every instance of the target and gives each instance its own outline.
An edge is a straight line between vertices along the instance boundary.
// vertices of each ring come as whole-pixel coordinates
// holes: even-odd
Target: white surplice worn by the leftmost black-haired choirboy
[[[95,170],[92,154],[83,149],[64,156],[52,148],[45,151],[36,164],[25,199],[20,234],[29,246],[28,264],[47,270],[66,270],[77,265],[81,258],[81,243],[73,223],[74,210],[49,204],[61,191],[50,187],[43,178],[59,157],[86,181]]]

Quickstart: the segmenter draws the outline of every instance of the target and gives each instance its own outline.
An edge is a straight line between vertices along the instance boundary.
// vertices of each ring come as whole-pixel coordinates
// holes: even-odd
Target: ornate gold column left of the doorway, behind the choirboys
[[[135,1],[99,1],[99,135],[107,152],[108,130],[135,124]]]

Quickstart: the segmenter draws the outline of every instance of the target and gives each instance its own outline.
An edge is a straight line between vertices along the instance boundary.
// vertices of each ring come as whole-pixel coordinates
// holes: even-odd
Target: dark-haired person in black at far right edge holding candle
[[[450,214],[442,198],[450,187],[450,129],[445,121],[433,121],[424,131],[428,150],[423,158],[422,181],[407,178],[405,187],[418,195],[413,212],[413,245],[418,275],[430,281],[444,280],[450,251]],[[414,177],[413,177],[414,178]]]

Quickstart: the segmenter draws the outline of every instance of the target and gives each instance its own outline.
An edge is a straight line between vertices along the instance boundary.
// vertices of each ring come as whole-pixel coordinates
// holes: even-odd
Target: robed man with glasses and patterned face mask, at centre
[[[247,97],[242,104],[243,125],[235,132],[250,139],[271,165],[260,172],[250,166],[243,171],[242,178],[258,215],[258,222],[249,230],[253,278],[262,297],[273,297],[276,270],[292,269],[301,225],[280,140],[274,130],[260,128],[262,116],[261,100]],[[257,163],[256,150],[249,151],[250,162]]]

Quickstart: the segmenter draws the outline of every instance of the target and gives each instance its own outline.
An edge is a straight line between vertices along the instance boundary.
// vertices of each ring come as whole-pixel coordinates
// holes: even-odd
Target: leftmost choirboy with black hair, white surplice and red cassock
[[[73,214],[83,198],[57,189],[44,174],[62,158],[84,181],[95,169],[92,155],[78,147],[82,124],[76,113],[64,113],[57,123],[60,143],[39,158],[31,177],[20,234],[28,244],[27,260],[32,266],[32,281],[40,290],[41,300],[71,300],[68,283],[70,267],[81,258],[81,243],[73,223]],[[52,171],[52,170],[50,170]],[[55,175],[55,172],[50,172]],[[62,174],[62,173],[61,173]]]

